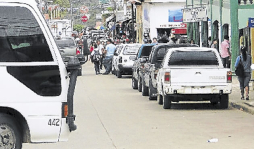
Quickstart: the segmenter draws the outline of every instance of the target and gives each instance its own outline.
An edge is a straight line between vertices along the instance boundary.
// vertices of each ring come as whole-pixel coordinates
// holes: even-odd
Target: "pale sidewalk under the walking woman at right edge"
[[[250,100],[241,100],[241,93],[237,76],[233,76],[232,80],[232,93],[229,95],[229,107],[239,109],[241,111],[254,114],[254,90],[252,81],[250,81]]]

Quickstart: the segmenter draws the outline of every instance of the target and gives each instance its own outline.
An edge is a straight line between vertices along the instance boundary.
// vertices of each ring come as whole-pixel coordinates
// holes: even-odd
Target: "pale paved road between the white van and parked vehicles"
[[[232,97],[232,96],[231,96]],[[83,66],[75,92],[77,131],[68,142],[24,149],[251,149],[254,116],[208,102],[164,110],[131,88],[131,76],[95,75]],[[208,143],[212,138],[218,142]]]

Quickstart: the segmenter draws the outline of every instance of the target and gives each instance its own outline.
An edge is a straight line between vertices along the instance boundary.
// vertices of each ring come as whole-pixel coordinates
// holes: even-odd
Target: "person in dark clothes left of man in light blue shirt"
[[[94,50],[91,53],[91,61],[92,63],[94,63],[95,74],[98,75],[100,74],[99,66],[100,66],[100,59],[101,59],[102,52],[97,47],[97,44],[94,44],[93,46],[94,46]]]

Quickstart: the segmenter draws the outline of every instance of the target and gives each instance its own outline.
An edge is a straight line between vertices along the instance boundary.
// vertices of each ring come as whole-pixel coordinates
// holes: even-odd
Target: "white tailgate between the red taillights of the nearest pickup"
[[[171,85],[214,86],[227,84],[227,69],[171,68]]]

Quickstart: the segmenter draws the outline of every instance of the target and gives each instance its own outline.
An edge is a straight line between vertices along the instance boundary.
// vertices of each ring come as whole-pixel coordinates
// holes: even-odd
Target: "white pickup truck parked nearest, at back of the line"
[[[157,101],[164,109],[179,101],[210,101],[228,108],[231,83],[232,73],[216,49],[172,48],[157,75]]]

